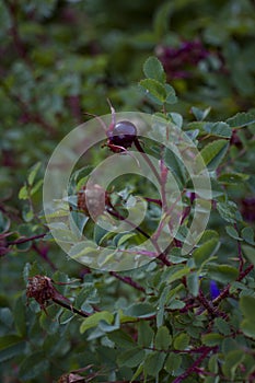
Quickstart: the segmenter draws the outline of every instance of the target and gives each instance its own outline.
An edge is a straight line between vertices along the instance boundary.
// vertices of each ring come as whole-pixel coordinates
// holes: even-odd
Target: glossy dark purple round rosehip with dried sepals
[[[119,121],[109,136],[109,143],[125,149],[130,148],[137,137],[137,128],[130,121]]]

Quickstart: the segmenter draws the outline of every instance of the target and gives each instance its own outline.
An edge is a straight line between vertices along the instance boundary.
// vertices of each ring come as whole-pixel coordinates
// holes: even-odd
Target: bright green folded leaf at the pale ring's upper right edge
[[[229,142],[227,140],[216,140],[208,143],[200,151],[200,154],[209,171],[215,171],[219,166],[228,151],[228,148]]]

